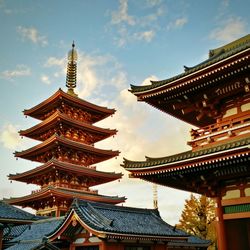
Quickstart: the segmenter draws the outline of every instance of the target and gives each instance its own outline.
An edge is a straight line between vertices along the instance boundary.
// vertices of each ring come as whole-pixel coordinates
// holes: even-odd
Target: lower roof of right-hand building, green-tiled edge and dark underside
[[[159,185],[215,197],[221,186],[236,185],[249,179],[250,137],[197,151],[146,158],[135,162],[124,159],[130,177]]]

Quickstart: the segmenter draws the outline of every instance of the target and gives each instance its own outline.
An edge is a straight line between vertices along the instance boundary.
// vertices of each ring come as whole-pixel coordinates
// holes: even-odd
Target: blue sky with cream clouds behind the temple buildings
[[[149,84],[182,73],[217,48],[250,33],[250,0],[0,0],[0,199],[27,195],[39,187],[10,182],[9,174],[40,164],[15,159],[13,152],[38,142],[18,131],[39,121],[22,113],[66,90],[67,53],[78,52],[76,92],[80,98],[115,108],[113,117],[95,125],[117,129],[96,144],[120,156],[97,165],[124,174],[95,189],[126,196],[124,205],[152,208],[152,184],[128,178],[123,157],[144,160],[190,148],[192,128],[137,102],[130,84]],[[178,223],[187,192],[158,186],[159,211]]]

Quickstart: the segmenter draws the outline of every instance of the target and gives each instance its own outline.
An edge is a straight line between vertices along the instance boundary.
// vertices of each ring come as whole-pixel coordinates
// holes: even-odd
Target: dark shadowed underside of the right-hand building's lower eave
[[[180,164],[175,169],[162,167],[144,172],[131,171],[131,177],[214,197],[226,186],[250,181],[250,156],[225,157],[207,163],[200,160],[195,166]]]

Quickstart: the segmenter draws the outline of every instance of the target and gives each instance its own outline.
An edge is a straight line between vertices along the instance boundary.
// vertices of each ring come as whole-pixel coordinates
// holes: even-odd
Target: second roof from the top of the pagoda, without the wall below
[[[54,129],[57,127],[56,124],[62,124],[62,123],[67,124],[71,127],[84,129],[84,131],[90,134],[100,135],[101,137],[99,139],[97,138],[95,142],[99,140],[103,140],[117,133],[116,129],[99,128],[99,127],[93,126],[92,124],[81,122],[76,119],[72,119],[69,116],[60,112],[59,110],[57,110],[53,115],[49,116],[47,119],[43,120],[41,123],[29,129],[21,130],[19,133],[21,136],[27,136],[33,139],[41,140],[41,138],[39,137],[41,133],[46,132],[50,129]],[[59,126],[58,126],[58,129],[60,129]]]

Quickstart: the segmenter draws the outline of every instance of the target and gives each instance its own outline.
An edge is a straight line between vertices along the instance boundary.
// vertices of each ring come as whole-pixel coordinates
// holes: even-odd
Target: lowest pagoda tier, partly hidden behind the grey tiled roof
[[[5,199],[5,202],[22,207],[31,207],[37,210],[37,215],[61,216],[68,210],[74,198],[109,204],[118,204],[125,201],[124,197],[98,195],[97,191],[84,192],[77,189],[48,186],[33,191],[30,195]]]

